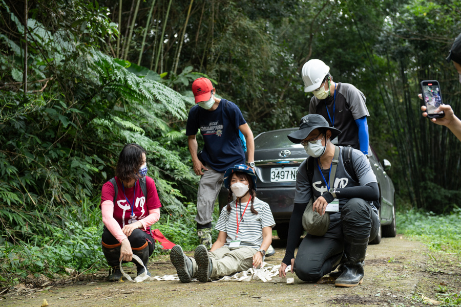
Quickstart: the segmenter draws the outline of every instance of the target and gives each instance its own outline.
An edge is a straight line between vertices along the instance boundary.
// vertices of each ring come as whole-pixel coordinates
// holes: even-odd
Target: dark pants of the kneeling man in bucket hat
[[[317,281],[330,273],[341,261],[344,236],[354,239],[378,234],[380,220],[376,211],[366,201],[350,199],[341,209],[341,218],[331,221],[323,236],[306,234],[295,258],[295,273],[301,280]]]

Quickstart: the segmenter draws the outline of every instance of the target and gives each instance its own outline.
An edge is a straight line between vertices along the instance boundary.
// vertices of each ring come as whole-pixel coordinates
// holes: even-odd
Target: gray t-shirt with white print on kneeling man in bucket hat
[[[359,150],[352,149],[352,166],[355,170],[355,175],[359,179],[359,182],[355,182],[347,173],[344,163],[342,160],[341,152],[343,146],[339,146],[339,162],[336,169],[336,174],[334,176],[333,186],[330,188],[346,188],[346,187],[355,187],[355,186],[364,186],[370,182],[377,182],[376,176],[371,169],[370,162],[367,157]],[[329,180],[329,169],[322,171],[325,180],[330,184]],[[312,178],[312,188],[309,184],[309,179],[307,177],[307,159],[304,160],[298,168],[298,174],[296,177],[296,192],[295,192],[295,203],[307,203],[309,202],[312,192],[317,199],[323,193],[328,191],[327,185],[324,178],[322,177],[317,159],[313,163],[313,178]],[[340,210],[342,206],[348,201],[348,199],[339,199]]]

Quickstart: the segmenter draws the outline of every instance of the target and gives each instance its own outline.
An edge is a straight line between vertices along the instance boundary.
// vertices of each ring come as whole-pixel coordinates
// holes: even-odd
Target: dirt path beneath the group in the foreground
[[[280,264],[284,242],[274,240],[276,254],[266,258]],[[414,306],[411,296],[425,278],[426,249],[418,242],[397,236],[371,245],[365,259],[361,286],[335,288],[333,284],[304,283],[295,275],[295,284],[262,282],[181,283],[146,281],[140,283],[83,282],[80,285],[52,287],[30,295],[8,294],[2,306]],[[149,266],[153,275],[174,274],[165,257]],[[416,304],[418,305],[418,304]]]

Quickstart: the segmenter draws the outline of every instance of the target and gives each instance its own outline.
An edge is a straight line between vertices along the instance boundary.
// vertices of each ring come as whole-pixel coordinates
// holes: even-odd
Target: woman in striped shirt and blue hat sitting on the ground
[[[195,249],[194,258],[187,257],[179,245],[171,250],[171,262],[182,282],[190,282],[195,277],[207,282],[259,268],[272,243],[274,217],[269,205],[256,197],[253,169],[243,164],[228,168],[224,173],[224,186],[229,189],[229,203],[221,210],[216,224],[218,239],[209,253],[204,245]],[[231,201],[233,194],[235,201]]]

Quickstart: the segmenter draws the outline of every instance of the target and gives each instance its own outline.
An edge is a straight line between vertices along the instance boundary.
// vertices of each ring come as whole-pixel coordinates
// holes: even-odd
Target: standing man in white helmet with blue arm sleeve
[[[335,83],[330,68],[319,59],[307,61],[302,70],[304,92],[312,92],[309,114],[322,115],[330,127],[342,131],[333,144],[350,145],[368,155],[368,113],[365,95],[349,83]]]

